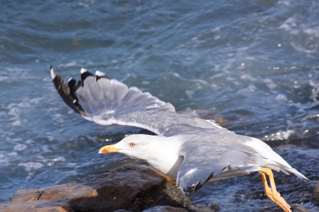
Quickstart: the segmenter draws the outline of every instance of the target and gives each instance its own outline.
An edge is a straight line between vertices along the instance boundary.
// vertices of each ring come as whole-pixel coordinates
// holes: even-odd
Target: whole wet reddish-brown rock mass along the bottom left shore
[[[104,174],[84,178],[77,183],[20,190],[9,202],[0,204],[0,211],[6,212],[182,212],[202,209],[195,207],[181,193],[176,187],[175,180],[143,165],[126,165]]]

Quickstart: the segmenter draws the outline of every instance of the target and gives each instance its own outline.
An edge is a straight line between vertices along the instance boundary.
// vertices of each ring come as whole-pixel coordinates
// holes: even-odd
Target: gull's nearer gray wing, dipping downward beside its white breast
[[[197,137],[196,144],[185,142],[182,145],[184,161],[176,181],[185,194],[191,195],[208,181],[249,174],[264,166],[264,161],[252,148],[241,148],[240,143],[227,142],[235,141],[236,136],[233,132],[220,129],[214,135],[201,135],[202,140]]]

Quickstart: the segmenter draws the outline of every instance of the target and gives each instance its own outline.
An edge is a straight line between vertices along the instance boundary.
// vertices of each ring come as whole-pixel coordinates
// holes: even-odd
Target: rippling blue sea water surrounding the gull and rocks
[[[311,202],[319,158],[319,2],[2,1],[0,201],[125,163],[99,147],[138,129],[100,127],[69,109],[49,78],[100,70],[269,143],[311,180],[275,173],[290,204]],[[192,200],[263,211],[258,174],[204,186]],[[275,210],[275,209],[274,209]]]

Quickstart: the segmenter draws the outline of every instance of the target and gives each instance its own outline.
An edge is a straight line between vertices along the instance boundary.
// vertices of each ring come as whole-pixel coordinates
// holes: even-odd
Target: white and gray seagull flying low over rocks
[[[172,104],[100,71],[93,75],[81,69],[80,81],[70,78],[67,82],[52,67],[50,74],[63,100],[85,119],[102,126],[134,126],[155,134],[129,135],[101,147],[99,154],[122,153],[145,160],[176,179],[187,196],[205,183],[258,172],[265,194],[291,212],[276,190],[272,170],[308,180],[263,141],[235,134],[214,120],[199,118],[196,112],[176,113]]]

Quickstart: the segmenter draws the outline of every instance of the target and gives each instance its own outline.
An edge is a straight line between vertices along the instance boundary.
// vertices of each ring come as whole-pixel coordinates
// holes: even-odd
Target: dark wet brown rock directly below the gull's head
[[[93,198],[73,198],[69,204],[76,210],[94,208],[96,211],[136,211],[141,207],[140,199],[145,197],[149,201],[153,200],[153,197],[143,194],[157,191],[164,182],[165,178],[150,168],[127,165],[80,181],[82,185],[94,188],[98,195]]]

